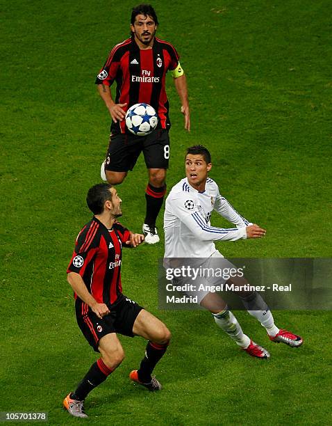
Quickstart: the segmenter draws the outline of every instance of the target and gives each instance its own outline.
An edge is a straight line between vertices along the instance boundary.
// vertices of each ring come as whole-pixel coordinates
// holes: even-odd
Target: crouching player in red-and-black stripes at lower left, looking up
[[[163,322],[122,294],[122,246],[136,247],[144,235],[133,234],[117,221],[122,215],[122,200],[116,189],[108,183],[94,185],[87,203],[94,216],[78,234],[67,279],[74,290],[78,326],[101,356],[63,401],[75,417],[88,417],[83,407],[85,397],[122,363],[124,351],[117,333],[149,340],[140,368],[129,374],[149,390],[161,389],[151,373],[170,339]]]

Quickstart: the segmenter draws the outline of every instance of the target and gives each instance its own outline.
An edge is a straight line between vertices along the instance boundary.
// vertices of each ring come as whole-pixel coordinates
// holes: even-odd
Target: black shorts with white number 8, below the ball
[[[122,172],[133,170],[142,151],[147,168],[168,168],[168,130],[155,129],[147,136],[127,133],[111,134],[105,169]]]

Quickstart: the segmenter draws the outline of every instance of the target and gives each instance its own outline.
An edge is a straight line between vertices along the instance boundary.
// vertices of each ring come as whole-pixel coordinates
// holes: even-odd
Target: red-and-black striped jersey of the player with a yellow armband
[[[140,102],[149,104],[158,113],[158,126],[166,129],[170,123],[165,78],[167,71],[178,65],[179,54],[169,42],[155,38],[152,49],[140,49],[133,38],[128,38],[112,49],[96,84],[110,86],[116,81],[116,104],[126,103],[124,111]],[[112,123],[111,130],[124,133],[124,120]]]

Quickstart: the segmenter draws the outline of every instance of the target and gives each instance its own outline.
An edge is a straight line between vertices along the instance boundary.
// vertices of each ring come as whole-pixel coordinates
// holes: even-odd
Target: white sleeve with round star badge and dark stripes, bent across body
[[[247,238],[245,228],[216,228],[206,223],[201,214],[200,207],[190,194],[181,194],[181,196],[172,199],[172,209],[174,214],[185,224],[187,228],[200,241],[236,241],[237,239]]]

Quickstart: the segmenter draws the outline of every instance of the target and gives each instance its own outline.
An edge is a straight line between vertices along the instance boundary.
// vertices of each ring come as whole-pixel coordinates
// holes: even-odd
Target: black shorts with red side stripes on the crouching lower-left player
[[[100,319],[80,299],[76,299],[75,303],[77,324],[95,352],[99,352],[99,340],[106,334],[120,333],[134,337],[133,325],[142,309],[142,306],[122,294],[110,313]]]

